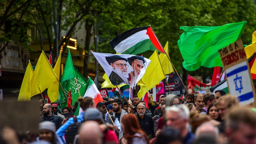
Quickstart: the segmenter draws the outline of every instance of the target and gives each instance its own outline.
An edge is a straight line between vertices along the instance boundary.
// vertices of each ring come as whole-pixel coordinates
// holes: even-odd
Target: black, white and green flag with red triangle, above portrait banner
[[[121,54],[136,55],[148,50],[155,51],[156,49],[165,53],[150,26],[136,27],[125,31],[113,38],[109,43],[117,53]]]

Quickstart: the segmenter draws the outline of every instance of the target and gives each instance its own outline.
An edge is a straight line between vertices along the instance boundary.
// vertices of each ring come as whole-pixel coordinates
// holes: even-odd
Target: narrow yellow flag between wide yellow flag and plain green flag
[[[58,77],[59,80],[59,75],[60,75],[60,62],[61,62],[61,53],[59,53],[58,60],[53,68],[53,71]],[[49,87],[47,91],[48,97],[51,100],[51,102],[54,102],[58,99],[59,96],[59,82],[54,81]]]

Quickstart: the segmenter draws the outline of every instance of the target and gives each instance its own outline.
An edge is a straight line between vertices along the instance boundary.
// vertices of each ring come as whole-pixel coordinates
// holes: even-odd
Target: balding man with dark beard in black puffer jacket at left
[[[40,118],[40,122],[44,122],[44,121],[50,121],[55,123],[56,125],[56,129],[58,129],[61,126],[61,123],[63,121],[63,119],[60,116],[54,115],[54,113],[52,112],[52,105],[51,104],[45,104],[43,107],[43,115]]]

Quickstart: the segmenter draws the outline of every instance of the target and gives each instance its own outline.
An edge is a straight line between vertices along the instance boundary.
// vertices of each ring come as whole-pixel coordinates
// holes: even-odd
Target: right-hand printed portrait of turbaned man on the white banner
[[[131,65],[133,71],[129,74],[129,83],[131,88],[134,89],[136,86],[137,78],[140,75],[140,70],[144,67],[145,60],[140,56],[132,56],[128,59],[128,63]]]

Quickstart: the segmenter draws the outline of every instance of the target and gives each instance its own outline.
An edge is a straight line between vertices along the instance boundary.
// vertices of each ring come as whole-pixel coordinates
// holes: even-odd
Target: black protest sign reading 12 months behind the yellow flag
[[[175,73],[175,74],[169,74],[169,75],[165,75],[165,76],[168,81],[169,88],[171,90],[171,93],[170,93],[167,82],[164,79],[163,81],[164,81],[165,95],[174,94],[174,95],[181,97],[183,95],[183,92],[182,92],[181,80],[178,77],[178,75]]]

